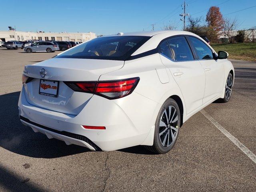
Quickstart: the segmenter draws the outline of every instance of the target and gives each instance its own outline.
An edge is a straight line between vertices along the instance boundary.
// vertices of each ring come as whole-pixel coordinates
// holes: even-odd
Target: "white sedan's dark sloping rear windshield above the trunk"
[[[127,60],[148,39],[148,36],[100,37],[75,46],[55,58]]]

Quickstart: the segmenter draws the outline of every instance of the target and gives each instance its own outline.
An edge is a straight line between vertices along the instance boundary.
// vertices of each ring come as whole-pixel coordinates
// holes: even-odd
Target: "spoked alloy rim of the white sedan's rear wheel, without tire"
[[[161,116],[159,138],[162,146],[168,147],[178,136],[178,113],[174,106],[168,106]]]

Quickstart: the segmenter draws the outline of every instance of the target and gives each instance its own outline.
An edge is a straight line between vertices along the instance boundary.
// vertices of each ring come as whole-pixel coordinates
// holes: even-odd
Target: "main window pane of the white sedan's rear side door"
[[[194,60],[194,56],[184,36],[167,40],[176,61]]]

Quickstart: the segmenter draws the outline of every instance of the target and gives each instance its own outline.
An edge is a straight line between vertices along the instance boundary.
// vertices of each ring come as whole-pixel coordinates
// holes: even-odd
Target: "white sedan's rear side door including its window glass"
[[[160,44],[160,58],[180,87],[187,114],[202,106],[205,73],[200,62],[194,59],[185,36],[164,40]]]

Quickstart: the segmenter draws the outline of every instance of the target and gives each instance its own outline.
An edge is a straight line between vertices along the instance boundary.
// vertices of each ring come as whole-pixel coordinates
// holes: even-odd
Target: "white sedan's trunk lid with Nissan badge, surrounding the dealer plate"
[[[53,58],[28,65],[24,74],[34,79],[24,84],[26,99],[34,106],[77,115],[93,94],[74,92],[64,82],[97,81],[100,75],[118,70],[123,65],[124,61],[70,58]],[[40,80],[58,82],[57,97],[39,94],[40,91],[45,91],[40,90]],[[44,84],[47,87],[48,81],[44,81]]]

